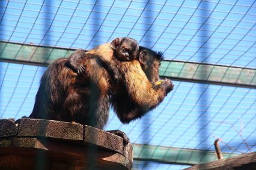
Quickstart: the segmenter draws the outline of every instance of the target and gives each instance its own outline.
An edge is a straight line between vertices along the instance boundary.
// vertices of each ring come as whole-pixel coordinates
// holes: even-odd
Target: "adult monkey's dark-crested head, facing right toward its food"
[[[155,84],[159,80],[159,67],[163,60],[163,53],[139,46],[137,59],[150,83]]]

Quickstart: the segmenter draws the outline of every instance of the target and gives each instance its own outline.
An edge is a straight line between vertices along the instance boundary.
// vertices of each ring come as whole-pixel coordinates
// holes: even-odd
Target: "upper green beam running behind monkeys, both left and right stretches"
[[[75,49],[0,42],[0,60],[46,66]],[[256,69],[164,60],[160,76],[173,80],[256,88]]]

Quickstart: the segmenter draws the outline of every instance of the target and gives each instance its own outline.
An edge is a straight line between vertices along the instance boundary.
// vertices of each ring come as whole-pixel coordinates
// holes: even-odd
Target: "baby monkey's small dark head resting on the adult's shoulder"
[[[115,38],[111,42],[111,47],[114,49],[115,57],[122,61],[135,59],[139,51],[138,42],[129,37]]]

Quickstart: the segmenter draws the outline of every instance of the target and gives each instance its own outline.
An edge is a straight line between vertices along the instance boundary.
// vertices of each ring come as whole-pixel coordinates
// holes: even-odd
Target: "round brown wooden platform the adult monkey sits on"
[[[104,130],[53,120],[0,120],[0,169],[131,169],[132,145]]]

